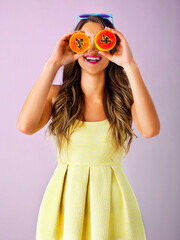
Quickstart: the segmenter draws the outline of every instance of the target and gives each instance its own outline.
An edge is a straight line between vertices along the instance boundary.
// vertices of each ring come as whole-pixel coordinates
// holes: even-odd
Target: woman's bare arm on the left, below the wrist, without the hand
[[[45,63],[20,112],[17,127],[21,132],[31,135],[48,122],[52,112],[51,99],[58,90],[57,85],[52,85],[58,69],[59,65],[52,60]]]

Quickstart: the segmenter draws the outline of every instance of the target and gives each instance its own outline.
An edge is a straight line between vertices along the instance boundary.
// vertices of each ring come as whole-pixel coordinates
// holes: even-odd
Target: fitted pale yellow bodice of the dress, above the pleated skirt
[[[80,121],[80,120],[76,120]],[[107,137],[109,121],[84,122],[64,142],[58,161],[80,165],[106,165],[121,163],[124,148],[114,151],[111,138]]]

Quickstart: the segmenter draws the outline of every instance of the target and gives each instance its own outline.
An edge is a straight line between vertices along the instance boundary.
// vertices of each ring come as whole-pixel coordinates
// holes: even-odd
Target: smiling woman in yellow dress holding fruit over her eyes
[[[100,52],[94,38],[106,27],[117,44]],[[91,41],[82,54],[69,47],[77,31]],[[100,61],[91,64],[87,56]],[[63,84],[52,85],[62,66]],[[108,19],[82,19],[57,41],[26,99],[18,128],[33,134],[50,117],[48,130],[56,136],[58,165],[42,199],[36,240],[145,240],[122,158],[135,136],[132,120],[146,138],[159,133],[160,122],[127,40]]]

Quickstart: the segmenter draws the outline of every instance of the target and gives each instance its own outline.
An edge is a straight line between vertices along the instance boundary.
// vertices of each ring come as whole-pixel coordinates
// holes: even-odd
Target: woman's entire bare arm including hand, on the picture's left
[[[58,87],[52,85],[57,71],[61,66],[76,61],[84,55],[84,53],[72,53],[69,47],[69,38],[75,32],[78,31],[64,34],[56,42],[49,60],[20,112],[17,127],[21,132],[31,135],[48,122],[52,112],[51,100],[58,91]]]

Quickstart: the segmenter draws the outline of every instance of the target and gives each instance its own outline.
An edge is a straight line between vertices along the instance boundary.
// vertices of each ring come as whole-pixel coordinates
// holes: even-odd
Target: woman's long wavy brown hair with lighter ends
[[[105,26],[115,29],[114,25],[108,19],[103,19],[99,16],[90,16],[87,19],[80,20],[74,31],[80,30],[85,23],[90,21],[101,24],[103,29]],[[117,36],[116,40],[119,43]],[[113,54],[115,51],[116,46],[110,50],[110,53]],[[110,123],[108,134],[111,134],[114,150],[117,151],[122,146],[125,150],[124,157],[126,157],[132,140],[136,136],[131,129],[131,105],[134,102],[132,90],[123,67],[110,61],[105,71],[103,106]],[[68,143],[71,134],[78,126],[80,127],[84,124],[85,102],[80,81],[81,67],[78,61],[76,60],[65,65],[63,69],[63,83],[58,94],[53,99],[52,121],[47,128],[49,136],[54,135],[56,138],[59,154],[63,145],[63,139],[66,139]],[[76,121],[77,118],[81,121]]]

